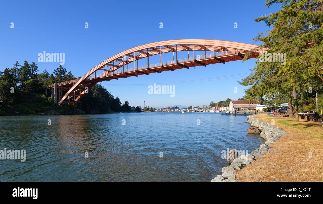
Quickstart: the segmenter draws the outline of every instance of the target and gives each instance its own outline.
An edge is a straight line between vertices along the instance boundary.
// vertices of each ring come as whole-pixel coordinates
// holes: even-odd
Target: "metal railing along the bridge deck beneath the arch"
[[[238,53],[242,53],[242,52],[247,52],[245,50],[238,50]],[[216,52],[215,53],[215,57],[219,57],[219,56],[225,56],[225,55],[232,55],[232,54],[236,54],[237,51],[236,50],[226,50],[224,52]],[[195,61],[200,61],[200,60],[203,60],[203,59],[209,59],[209,58],[213,58],[213,53],[211,54],[206,54],[206,55],[198,55],[198,56],[194,56],[194,57],[188,57],[188,58],[183,58],[183,59],[178,59],[177,60],[177,63],[185,63],[185,62],[193,62],[194,60]],[[167,66],[167,65],[174,65],[176,64],[176,60],[172,60],[172,61],[167,61],[167,62],[162,62],[161,63],[161,66]],[[129,68],[129,69],[124,69],[124,72],[132,72],[135,70],[143,70],[143,69],[146,69],[146,65],[144,66],[138,66],[136,68]],[[151,64],[151,65],[148,65],[148,68],[155,68],[155,67],[160,67],[160,63],[156,63],[156,64]],[[114,75],[114,74],[122,74],[123,73],[123,70],[116,70],[114,72],[110,72],[108,74],[105,74],[105,77],[107,76],[111,76],[111,75]],[[91,77],[88,77],[88,79],[93,79],[93,78],[99,78],[99,77],[103,77],[103,74],[100,74],[100,75],[95,75],[95,76],[91,76]]]

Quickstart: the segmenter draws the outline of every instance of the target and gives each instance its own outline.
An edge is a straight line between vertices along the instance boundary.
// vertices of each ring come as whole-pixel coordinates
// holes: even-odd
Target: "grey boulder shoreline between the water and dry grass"
[[[230,150],[227,154],[228,163],[231,163],[230,166],[222,168],[222,175],[217,175],[211,181],[241,181],[236,180],[235,171],[251,165],[257,157],[268,153],[270,151],[270,146],[286,133],[286,131],[281,128],[274,127],[266,121],[258,120],[252,115],[247,117],[247,123],[251,125],[251,127],[247,128],[248,133],[260,133],[260,137],[265,139],[266,142],[260,145],[259,148],[252,151],[251,154],[240,155],[236,149]]]

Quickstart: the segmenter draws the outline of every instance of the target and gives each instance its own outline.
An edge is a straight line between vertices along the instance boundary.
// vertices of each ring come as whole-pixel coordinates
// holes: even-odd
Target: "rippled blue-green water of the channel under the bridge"
[[[0,159],[0,181],[210,181],[227,165],[222,150],[263,143],[247,127],[245,116],[193,112],[0,117],[0,149],[26,150],[25,162]]]

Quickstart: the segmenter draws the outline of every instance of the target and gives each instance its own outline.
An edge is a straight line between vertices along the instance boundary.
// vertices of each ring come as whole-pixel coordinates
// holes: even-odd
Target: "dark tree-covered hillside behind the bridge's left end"
[[[109,113],[130,111],[128,101],[123,104],[113,97],[101,84],[97,84],[84,95],[75,107],[58,106],[50,96],[45,96],[43,87],[50,84],[76,79],[62,65],[52,74],[45,69],[38,73],[35,62],[20,65],[17,61],[12,68],[0,72],[0,115],[58,113],[73,114],[77,109],[85,113]]]

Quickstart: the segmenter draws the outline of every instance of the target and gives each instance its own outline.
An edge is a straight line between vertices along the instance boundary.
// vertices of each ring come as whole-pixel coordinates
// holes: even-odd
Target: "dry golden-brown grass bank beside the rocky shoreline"
[[[242,181],[323,181],[322,122],[306,122],[294,118],[258,115],[287,133],[276,141],[269,154],[257,158],[252,165],[236,171]],[[312,157],[309,157],[312,152]]]

